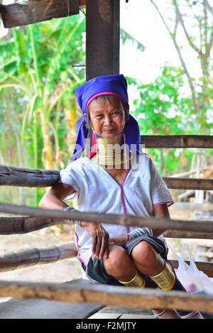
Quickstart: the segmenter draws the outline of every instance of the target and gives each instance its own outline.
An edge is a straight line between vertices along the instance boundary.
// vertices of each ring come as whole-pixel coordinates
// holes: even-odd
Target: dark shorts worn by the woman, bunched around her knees
[[[131,251],[134,246],[136,246],[140,241],[148,241],[153,248],[160,253],[160,256],[162,256],[165,261],[167,261],[167,251],[165,249],[165,244],[161,239],[158,239],[154,236],[147,236],[143,235],[136,239],[132,239],[131,241],[128,241],[125,246],[121,246],[128,252],[129,256],[131,255]],[[113,246],[109,246],[111,248]],[[100,260],[97,258],[90,258],[88,266],[84,266],[82,263],[82,268],[84,269],[85,273],[89,276],[89,278],[92,278],[92,280],[95,280],[99,283],[103,283],[104,285],[122,285],[122,283],[119,283],[118,280],[113,278],[113,276],[109,275],[107,273],[107,270],[104,266],[104,259]],[[147,288],[156,288],[157,285],[149,278],[147,275],[143,275],[143,278],[146,278],[146,287]],[[124,286],[124,285],[123,285]]]

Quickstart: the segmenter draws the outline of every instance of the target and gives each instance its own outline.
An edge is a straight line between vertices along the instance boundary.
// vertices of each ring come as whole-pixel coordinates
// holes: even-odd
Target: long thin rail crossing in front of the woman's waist
[[[185,230],[185,231],[203,231],[212,234],[213,222],[204,222],[203,224],[182,221],[178,219],[165,219],[156,217],[137,217],[133,215],[121,214],[100,214],[95,212],[79,212],[77,210],[64,212],[60,209],[43,209],[38,207],[19,206],[17,204],[0,203],[0,212],[28,215],[33,217],[55,218],[55,219],[77,219],[85,222],[120,224],[125,226],[150,226],[156,228],[159,225],[162,229]]]

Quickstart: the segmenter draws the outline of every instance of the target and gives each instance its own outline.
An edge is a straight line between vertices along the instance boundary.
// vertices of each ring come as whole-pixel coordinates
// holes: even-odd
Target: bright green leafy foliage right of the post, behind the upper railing
[[[202,134],[200,115],[195,114],[192,99],[185,97],[184,77],[180,68],[165,65],[161,75],[149,84],[136,84],[128,78],[129,84],[135,84],[138,89],[139,97],[133,104],[141,135]],[[206,135],[212,130],[211,110],[202,119]],[[146,152],[155,160],[160,173],[167,176],[177,170],[178,173],[189,170],[193,158],[193,149],[148,149]],[[206,152],[212,154],[210,150]]]

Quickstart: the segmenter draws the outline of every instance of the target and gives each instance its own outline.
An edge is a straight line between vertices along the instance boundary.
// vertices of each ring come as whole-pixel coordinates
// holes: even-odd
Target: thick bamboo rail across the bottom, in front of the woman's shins
[[[0,297],[16,299],[43,298],[59,302],[102,302],[119,307],[199,310],[213,313],[212,295],[189,294],[170,290],[126,288],[112,285],[85,285],[75,283],[58,285],[49,283],[14,283],[1,281]]]

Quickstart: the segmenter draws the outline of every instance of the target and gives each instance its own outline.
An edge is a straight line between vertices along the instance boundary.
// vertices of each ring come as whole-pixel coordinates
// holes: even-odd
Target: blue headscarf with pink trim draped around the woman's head
[[[123,101],[129,105],[129,98],[127,93],[127,82],[124,75],[107,75],[102,77],[95,77],[82,84],[80,87],[75,89],[77,102],[82,110],[83,116],[76,122],[76,134],[77,141],[75,144],[75,150],[73,155],[70,157],[71,162],[77,160],[82,155],[85,148],[85,138],[88,135],[88,129],[86,127],[87,119],[84,114],[87,113],[87,107],[92,99],[100,95],[114,94],[119,96]],[[136,119],[129,115],[129,121],[124,126],[122,131],[126,137],[126,144],[131,148],[131,145],[136,145],[136,153],[141,153],[140,142],[141,134]]]

